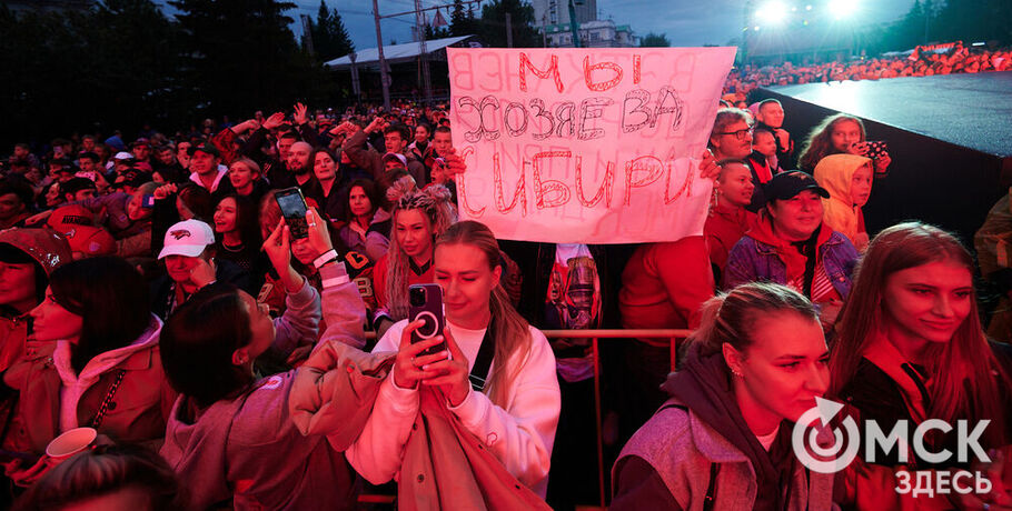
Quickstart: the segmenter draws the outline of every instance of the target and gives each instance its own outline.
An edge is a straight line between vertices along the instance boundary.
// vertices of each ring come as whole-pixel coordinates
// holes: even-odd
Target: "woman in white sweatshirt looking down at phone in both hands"
[[[450,227],[436,241],[434,268],[444,292],[444,335],[411,344],[411,332],[424,323],[404,320],[379,340],[373,351],[396,351],[394,369],[346,452],[348,461],[373,483],[399,480],[419,389],[430,387],[510,474],[544,498],[560,405],[548,341],[509,304],[499,285],[498,244],[484,224]],[[421,354],[444,341],[446,350]],[[470,377],[485,342],[494,344],[494,355],[483,381]]]

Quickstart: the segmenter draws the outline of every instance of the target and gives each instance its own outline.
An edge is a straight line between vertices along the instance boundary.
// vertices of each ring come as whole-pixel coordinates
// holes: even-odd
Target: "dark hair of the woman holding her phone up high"
[[[220,282],[204,287],[161,329],[161,367],[169,384],[201,408],[240,393],[256,378],[232,364],[232,352],[251,338],[239,289]]]

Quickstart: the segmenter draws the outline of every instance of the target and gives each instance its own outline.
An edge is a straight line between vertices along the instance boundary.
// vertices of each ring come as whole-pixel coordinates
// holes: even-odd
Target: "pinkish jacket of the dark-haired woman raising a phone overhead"
[[[327,304],[325,339],[361,345],[365,308],[343,263],[320,269]],[[320,320],[316,290],[304,282],[288,295],[275,320],[275,348],[286,339],[316,337]],[[284,350],[282,350],[284,351]],[[228,502],[235,509],[355,509],[356,477],[325,437],[304,437],[289,408],[296,372],[265,378],[234,399],[197,410],[191,398],[176,401],[166,428],[162,458],[188,489],[187,509]]]

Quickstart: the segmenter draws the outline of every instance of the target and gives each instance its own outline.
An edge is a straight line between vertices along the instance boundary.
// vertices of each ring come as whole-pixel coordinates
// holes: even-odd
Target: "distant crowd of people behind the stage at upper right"
[[[735,107],[745,108],[748,93],[760,87],[1009,70],[1012,70],[1012,49],[965,47],[962,42],[954,42],[850,61],[800,66],[790,61],[762,67],[750,64],[727,77],[724,99]]]

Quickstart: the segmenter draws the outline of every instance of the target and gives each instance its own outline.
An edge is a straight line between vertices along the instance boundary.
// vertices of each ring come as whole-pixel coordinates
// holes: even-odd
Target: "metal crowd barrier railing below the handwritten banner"
[[[542,330],[548,339],[591,339],[591,350],[594,352],[594,413],[597,422],[597,499],[601,509],[605,507],[605,473],[604,465],[604,439],[602,432],[602,409],[601,409],[601,357],[598,350],[599,339],[669,339],[676,341],[685,339],[692,333],[692,330],[685,329],[598,329],[598,330]],[[366,337],[375,339],[374,332],[367,332]],[[671,368],[675,369],[677,359],[677,342],[671,342]],[[363,503],[393,503],[394,498],[389,495],[363,494],[359,502]]]

